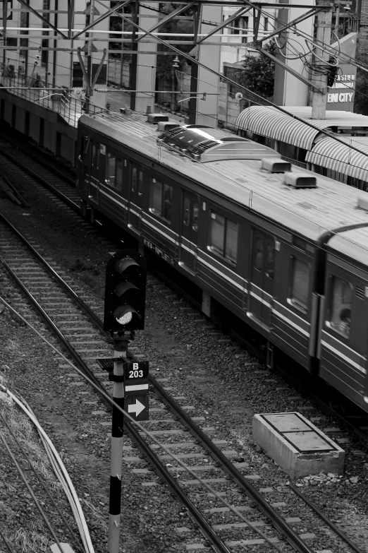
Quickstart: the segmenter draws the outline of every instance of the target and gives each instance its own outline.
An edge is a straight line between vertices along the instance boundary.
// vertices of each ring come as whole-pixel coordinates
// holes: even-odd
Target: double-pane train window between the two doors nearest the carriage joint
[[[209,249],[235,264],[238,256],[238,223],[211,211]]]

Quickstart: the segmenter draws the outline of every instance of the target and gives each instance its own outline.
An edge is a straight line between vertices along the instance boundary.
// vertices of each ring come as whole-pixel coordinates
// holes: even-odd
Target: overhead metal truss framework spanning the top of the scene
[[[14,4],[15,1],[18,1],[19,8],[15,8]],[[337,1],[337,0],[336,0]],[[29,2],[29,3],[28,3]],[[152,4],[156,4],[157,6],[157,0],[144,0],[140,2],[140,0],[125,0],[121,1],[118,5],[114,6],[114,8],[110,7],[110,1],[101,1],[101,0],[91,0],[90,6],[87,8],[83,13],[89,13],[90,14],[90,23],[88,25],[85,25],[85,28],[82,29],[74,29],[73,28],[73,19],[75,16],[75,13],[81,13],[75,11],[75,0],[65,0],[63,1],[63,11],[59,11],[58,13],[63,13],[64,18],[66,15],[67,20],[67,27],[61,28],[58,25],[53,25],[49,18],[44,17],[42,13],[39,13],[34,7],[32,7],[32,0],[14,0],[13,1],[13,11],[20,11],[20,9],[28,10],[35,17],[37,17],[40,21],[40,25],[42,25],[42,28],[32,30],[39,30],[40,34],[42,31],[42,35],[45,34],[45,28],[49,29],[50,31],[54,31],[54,36],[52,36],[52,39],[54,40],[54,46],[53,47],[47,47],[48,50],[63,50],[68,52],[75,52],[78,53],[78,59],[80,61],[80,65],[82,68],[83,75],[85,77],[85,81],[87,83],[87,95],[93,93],[93,86],[94,83],[97,81],[97,78],[92,80],[92,73],[90,71],[90,68],[88,67],[88,61],[87,61],[87,69],[85,68],[85,65],[82,61],[82,58],[80,56],[80,47],[75,47],[75,41],[81,40],[81,37],[83,40],[87,40],[87,43],[84,48],[87,55],[90,57],[90,54],[93,49],[96,49],[93,42],[98,42],[99,40],[104,40],[106,42],[109,42],[109,40],[114,40],[114,42],[121,42],[127,43],[129,42],[131,47],[130,49],[124,50],[126,53],[130,54],[137,54],[138,53],[138,44],[140,43],[161,43],[165,44],[169,49],[170,52],[164,52],[164,54],[173,55],[173,54],[179,54],[182,57],[185,57],[190,60],[190,62],[194,61],[194,64],[200,65],[199,61],[190,54],[186,54],[185,52],[182,52],[180,49],[178,49],[178,46],[180,44],[192,44],[193,47],[196,47],[197,51],[200,49],[200,47],[203,44],[208,45],[216,45],[219,47],[221,44],[221,39],[217,40],[217,42],[211,42],[211,37],[214,37],[214,35],[219,35],[223,31],[223,29],[231,27],[231,24],[237,20],[240,17],[243,17],[246,13],[252,14],[252,21],[253,21],[253,28],[252,28],[252,34],[253,34],[253,40],[252,42],[247,42],[247,47],[253,47],[254,49],[257,49],[260,53],[264,54],[265,56],[271,58],[276,64],[281,66],[286,71],[290,72],[298,78],[300,81],[305,83],[305,85],[308,85],[312,88],[316,93],[324,94],[326,93],[326,83],[321,82],[321,76],[319,75],[319,78],[308,78],[305,74],[302,74],[298,71],[295,71],[295,69],[291,68],[290,65],[288,65],[283,59],[280,57],[274,57],[269,52],[264,49],[263,44],[264,42],[267,42],[272,37],[282,36],[282,33],[287,32],[288,30],[291,30],[292,32],[296,32],[298,23],[301,23],[302,21],[306,20],[307,18],[314,18],[317,16],[317,21],[319,20],[319,16],[326,15],[327,14],[327,20],[325,20],[324,27],[327,26],[328,32],[324,32],[324,35],[321,40],[321,35],[317,34],[317,40],[311,39],[310,44],[312,44],[312,48],[314,48],[314,53],[316,49],[319,49],[320,55],[319,59],[322,61],[319,65],[323,65],[324,62],[326,62],[326,65],[328,65],[329,57],[335,52],[333,48],[330,47],[330,37],[331,37],[331,16],[332,12],[335,9],[334,4],[330,4],[327,1],[324,0],[317,0],[317,5],[312,6],[312,4],[274,4],[268,1],[250,1],[250,0],[187,0],[180,3],[180,5],[177,5],[176,9],[174,9],[170,14],[164,16],[163,18],[159,19],[159,21],[153,25],[148,30],[145,30],[140,25],[140,7],[144,6],[145,8],[152,9],[152,11],[158,11],[157,8],[149,6]],[[172,4],[169,0],[163,0],[160,1],[159,4]],[[341,4],[341,2],[339,2]],[[104,13],[102,16],[99,16],[97,18],[94,18],[95,13],[95,6],[103,6]],[[0,42],[0,48],[4,49],[4,57],[3,62],[5,65],[5,50],[6,49],[13,49],[14,47],[9,47],[6,44],[6,39],[8,35],[8,30],[11,31],[11,36],[19,37],[19,38],[27,38],[27,35],[24,34],[24,32],[27,33],[27,31],[30,30],[30,28],[17,28],[12,29],[11,26],[8,25],[7,21],[7,14],[8,14],[8,8],[9,8],[9,2],[8,0],[2,1],[3,6],[3,13],[2,13],[2,44]],[[124,8],[127,6],[131,6],[131,13],[124,13]],[[202,9],[205,6],[223,6],[228,8],[238,8],[238,10],[233,13],[230,17],[226,18],[226,20],[223,20],[223,22],[219,24],[214,24],[210,22],[204,22],[202,20]],[[276,22],[276,29],[272,30],[271,32],[259,32],[259,21],[261,18],[261,15],[267,14],[268,10],[280,10],[280,9],[290,9],[290,8],[302,8],[307,10],[306,13],[304,13],[302,16],[298,16],[297,18],[290,20],[288,23],[283,23],[281,20],[278,20],[277,18],[274,18]],[[181,35],[180,39],[182,40],[173,40],[172,35],[169,35],[168,37],[164,36],[165,33],[160,33],[159,28],[164,25],[165,23],[168,23],[169,21],[179,17],[181,14],[187,12],[190,10],[190,14],[192,17],[192,33],[190,35]],[[49,10],[48,13],[56,13],[56,10],[52,11]],[[106,18],[109,18],[110,16],[119,16],[123,21],[126,23],[129,23],[133,27],[133,32],[130,32],[130,37],[125,38],[125,35],[127,33],[121,32],[121,36],[118,35],[120,33],[117,33],[114,35],[114,39],[111,39],[111,33],[109,31],[97,31],[95,30],[96,25],[101,23]],[[201,34],[199,32],[201,23],[206,23],[206,25],[212,25],[213,29],[207,32],[206,34]],[[318,23],[317,23],[318,25]],[[16,31],[16,34],[14,32]],[[0,29],[1,32],[1,29]],[[106,35],[103,39],[99,39],[99,35],[97,33],[104,33]],[[243,33],[242,33],[243,34]],[[298,32],[297,32],[298,34]],[[168,33],[166,33],[168,35]],[[309,37],[311,38],[311,37]],[[57,40],[63,40],[63,47],[59,48],[56,46],[56,39]],[[184,39],[184,40],[183,40]],[[66,42],[69,42],[69,46],[66,45]],[[323,46],[321,46],[323,44]],[[230,46],[242,46],[243,43],[235,43],[232,44],[226,44]],[[24,47],[23,49],[35,49],[35,47]],[[39,51],[42,51],[42,47],[38,48]],[[101,50],[99,50],[101,52]],[[106,57],[106,52],[110,52],[109,49],[103,49],[103,59]],[[114,51],[116,52],[116,51]],[[147,52],[152,53],[153,52]],[[161,54],[161,52],[160,52]],[[133,60],[136,58],[136,56],[133,55]],[[346,60],[345,61],[350,61]],[[103,62],[102,62],[103,63]],[[99,69],[102,67],[102,63],[100,63]],[[133,61],[134,64],[134,61]],[[225,81],[228,80],[226,77],[221,75],[221,78],[223,78]],[[326,79],[325,79],[326,80]],[[94,81],[94,82],[93,82]],[[193,81],[193,79],[192,79]],[[229,81],[229,80],[228,80]],[[132,88],[136,89],[137,86],[135,85],[134,79],[132,82]],[[191,90],[191,95],[195,95],[197,91],[195,90],[195,86],[193,85],[193,90]]]

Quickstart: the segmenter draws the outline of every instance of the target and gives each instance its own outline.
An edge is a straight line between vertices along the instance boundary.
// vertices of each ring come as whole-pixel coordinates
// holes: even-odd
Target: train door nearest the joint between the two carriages
[[[250,314],[269,327],[274,290],[275,240],[259,230],[252,237],[252,269],[250,278]]]

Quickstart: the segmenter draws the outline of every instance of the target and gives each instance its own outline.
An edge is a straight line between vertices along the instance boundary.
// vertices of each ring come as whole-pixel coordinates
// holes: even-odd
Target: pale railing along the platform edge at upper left
[[[47,109],[58,113],[71,126],[78,125],[78,119],[85,109],[85,95],[81,89],[69,89],[62,86],[45,84],[37,78],[25,78],[22,73],[10,71],[7,66],[0,64],[0,84],[9,93],[23,97]],[[105,111],[101,107],[90,104],[90,112]]]

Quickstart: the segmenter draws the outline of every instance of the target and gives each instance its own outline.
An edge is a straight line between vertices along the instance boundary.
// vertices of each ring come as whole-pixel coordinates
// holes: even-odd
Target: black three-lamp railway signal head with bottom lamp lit
[[[121,333],[145,327],[147,268],[145,258],[122,249],[106,265],[104,331]]]

